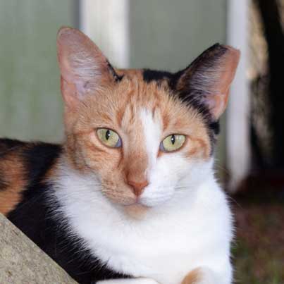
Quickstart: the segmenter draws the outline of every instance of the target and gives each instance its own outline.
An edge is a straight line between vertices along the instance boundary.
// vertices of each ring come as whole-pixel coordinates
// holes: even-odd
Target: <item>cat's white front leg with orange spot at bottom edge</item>
[[[181,284],[230,284],[230,281],[226,283],[219,279],[210,268],[199,267],[190,271]]]

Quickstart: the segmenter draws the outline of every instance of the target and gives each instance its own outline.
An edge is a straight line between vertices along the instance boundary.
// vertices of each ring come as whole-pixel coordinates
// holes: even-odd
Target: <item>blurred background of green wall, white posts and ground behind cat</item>
[[[0,0],[0,137],[63,140],[62,25],[118,68],[176,71],[216,42],[242,51],[216,172],[236,218],[236,283],[283,284],[284,1]]]

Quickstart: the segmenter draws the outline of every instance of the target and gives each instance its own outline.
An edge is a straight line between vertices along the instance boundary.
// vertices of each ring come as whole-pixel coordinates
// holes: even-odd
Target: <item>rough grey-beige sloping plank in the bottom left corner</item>
[[[0,283],[75,284],[77,282],[0,214]]]

